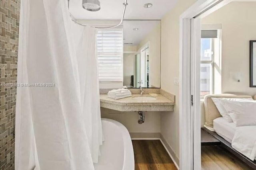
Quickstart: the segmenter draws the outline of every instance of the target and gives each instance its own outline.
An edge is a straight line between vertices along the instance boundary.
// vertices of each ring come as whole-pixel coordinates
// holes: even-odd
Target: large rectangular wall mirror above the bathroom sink
[[[123,85],[160,88],[161,21],[124,20],[123,27]]]

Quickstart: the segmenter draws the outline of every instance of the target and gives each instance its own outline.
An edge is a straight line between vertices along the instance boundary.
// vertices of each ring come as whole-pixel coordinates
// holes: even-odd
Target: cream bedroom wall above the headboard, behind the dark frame
[[[222,93],[254,96],[250,88],[249,41],[256,40],[256,2],[231,2],[203,18],[203,24],[222,24]],[[239,83],[236,75],[241,75]]]

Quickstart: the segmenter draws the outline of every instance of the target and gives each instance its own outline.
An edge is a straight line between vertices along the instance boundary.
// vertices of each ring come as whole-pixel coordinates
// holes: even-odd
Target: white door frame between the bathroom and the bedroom
[[[198,0],[180,16],[180,170],[201,169],[201,18],[232,1]]]

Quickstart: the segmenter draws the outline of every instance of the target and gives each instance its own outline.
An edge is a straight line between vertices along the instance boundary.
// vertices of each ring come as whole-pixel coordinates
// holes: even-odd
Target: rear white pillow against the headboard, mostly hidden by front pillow
[[[212,98],[212,101],[214,102],[218,111],[220,112],[222,117],[228,122],[233,122],[233,120],[231,119],[230,115],[228,115],[226,109],[223,107],[222,99],[228,101],[253,101],[252,98]]]

